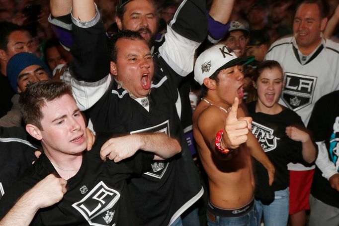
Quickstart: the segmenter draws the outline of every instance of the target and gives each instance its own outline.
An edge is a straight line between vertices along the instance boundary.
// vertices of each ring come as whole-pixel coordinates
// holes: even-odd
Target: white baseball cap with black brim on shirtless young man
[[[202,52],[196,59],[194,79],[202,85],[205,78],[209,78],[218,70],[233,67],[238,64],[249,64],[252,61],[254,61],[254,56],[238,58],[233,50],[226,45],[214,45]]]

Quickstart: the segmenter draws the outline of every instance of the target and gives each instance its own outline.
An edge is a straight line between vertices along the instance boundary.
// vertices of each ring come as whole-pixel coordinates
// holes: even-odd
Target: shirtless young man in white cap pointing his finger
[[[227,46],[215,45],[195,63],[194,77],[202,85],[202,101],[193,113],[193,134],[208,175],[209,226],[232,225],[234,221],[256,225],[252,153],[246,144],[252,118],[237,119],[244,95],[240,65],[251,61],[253,57],[237,58]]]

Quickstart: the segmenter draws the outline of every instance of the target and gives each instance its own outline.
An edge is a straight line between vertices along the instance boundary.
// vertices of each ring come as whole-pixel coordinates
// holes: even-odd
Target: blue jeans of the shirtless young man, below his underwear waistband
[[[249,213],[241,217],[223,218],[215,215],[213,216],[215,221],[207,217],[208,226],[258,226],[255,205]]]

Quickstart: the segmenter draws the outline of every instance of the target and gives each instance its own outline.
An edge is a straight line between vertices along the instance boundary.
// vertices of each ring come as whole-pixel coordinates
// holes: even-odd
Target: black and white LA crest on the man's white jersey
[[[294,112],[312,103],[317,77],[285,72],[286,86],[281,99]]]

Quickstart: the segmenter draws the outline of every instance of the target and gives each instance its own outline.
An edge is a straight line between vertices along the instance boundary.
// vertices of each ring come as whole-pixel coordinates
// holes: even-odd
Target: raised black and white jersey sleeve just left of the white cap
[[[207,34],[205,0],[183,1],[168,25],[159,53],[178,75],[193,71],[195,50]]]

